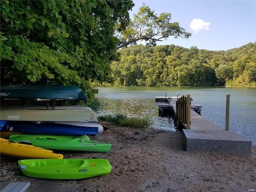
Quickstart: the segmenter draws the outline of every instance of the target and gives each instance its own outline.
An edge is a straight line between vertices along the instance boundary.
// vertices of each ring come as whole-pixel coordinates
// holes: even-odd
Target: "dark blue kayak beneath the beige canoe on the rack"
[[[90,124],[91,125],[91,124]],[[2,131],[13,131],[32,135],[96,135],[98,126],[76,126],[58,123],[40,123],[28,121],[7,121],[1,128]]]

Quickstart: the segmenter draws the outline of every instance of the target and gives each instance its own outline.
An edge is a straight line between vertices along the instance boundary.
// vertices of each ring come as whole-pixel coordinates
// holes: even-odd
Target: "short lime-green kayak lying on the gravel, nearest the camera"
[[[18,164],[26,176],[46,179],[83,179],[107,175],[112,168],[106,159],[26,159]]]

